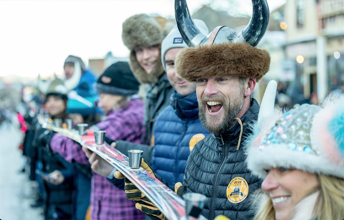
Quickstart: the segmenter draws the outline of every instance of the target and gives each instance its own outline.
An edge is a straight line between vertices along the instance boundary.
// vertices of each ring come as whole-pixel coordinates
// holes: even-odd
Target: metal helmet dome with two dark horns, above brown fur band
[[[175,0],[175,19],[178,29],[189,47],[201,44],[219,44],[226,42],[248,43],[256,46],[264,36],[269,23],[269,7],[266,0],[252,0],[252,17],[246,28],[237,34],[226,26],[218,26],[206,36],[193,22],[186,0]]]

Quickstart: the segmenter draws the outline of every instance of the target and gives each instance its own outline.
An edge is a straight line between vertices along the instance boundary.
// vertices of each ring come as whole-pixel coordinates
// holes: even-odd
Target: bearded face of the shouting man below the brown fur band
[[[202,103],[198,104],[198,116],[205,128],[212,133],[223,133],[228,130],[243,108],[244,99],[246,100],[247,97],[245,95],[249,96],[253,92],[253,90],[251,92],[251,87],[254,87],[255,83],[254,78],[238,78],[229,75],[198,79],[197,99],[198,103]],[[245,84],[248,87],[245,88]],[[226,96],[228,96],[227,99]],[[245,104],[247,107],[247,101]]]

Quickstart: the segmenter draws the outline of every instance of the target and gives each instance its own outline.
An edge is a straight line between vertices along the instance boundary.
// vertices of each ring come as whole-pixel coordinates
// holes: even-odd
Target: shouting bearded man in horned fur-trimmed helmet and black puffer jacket
[[[258,118],[259,104],[251,94],[270,65],[269,53],[255,47],[267,29],[269,8],[266,0],[252,0],[252,5],[243,31],[218,26],[206,35],[194,24],[185,0],[175,1],[177,25],[189,46],[176,58],[176,73],[196,82],[198,115],[213,133],[190,153],[184,193],[207,197],[201,214],[208,219],[220,214],[252,219],[250,195],[261,185],[247,169],[242,146]]]

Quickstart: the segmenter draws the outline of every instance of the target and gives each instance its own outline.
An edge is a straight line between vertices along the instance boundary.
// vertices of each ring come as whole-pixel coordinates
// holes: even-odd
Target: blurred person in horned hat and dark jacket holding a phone
[[[45,106],[52,119],[67,118],[67,88],[61,79],[52,81],[48,88]],[[36,177],[37,182],[43,189],[44,217],[45,219],[71,219],[72,217],[72,192],[73,192],[73,172],[72,164],[66,162],[61,156],[54,154],[46,144],[50,142],[51,136],[36,123],[31,151],[37,151],[34,159],[36,161],[35,172],[53,173],[48,179],[42,181]],[[38,171],[39,170],[39,171]],[[53,179],[58,172],[61,177]],[[43,178],[43,177],[42,177]],[[62,180],[61,180],[62,179]]]

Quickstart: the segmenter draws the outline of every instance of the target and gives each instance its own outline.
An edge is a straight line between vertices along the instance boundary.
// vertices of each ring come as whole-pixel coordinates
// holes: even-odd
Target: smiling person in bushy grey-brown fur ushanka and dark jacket
[[[145,145],[116,141],[116,148],[126,153],[133,148],[143,150],[148,160],[148,155],[152,153],[151,146],[154,145],[152,130],[155,120],[161,110],[168,106],[173,93],[161,64],[160,52],[161,41],[172,26],[165,18],[150,17],[147,14],[135,14],[123,22],[122,40],[130,50],[130,68],[135,78],[145,86],[143,123],[146,135],[142,137],[142,144]]]

